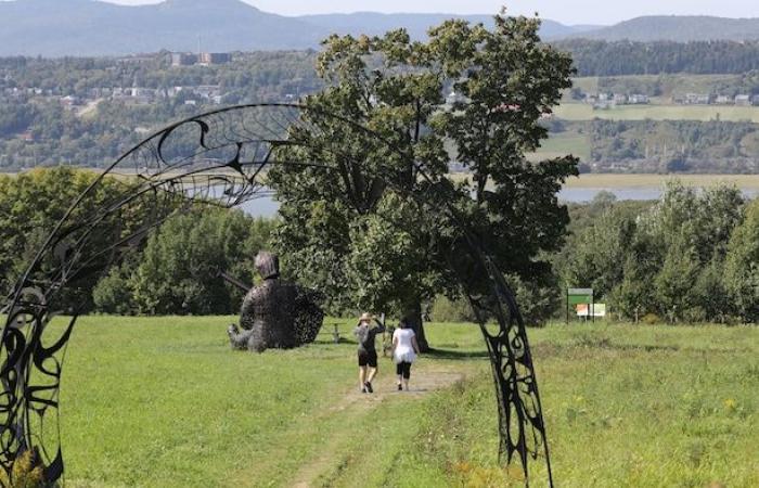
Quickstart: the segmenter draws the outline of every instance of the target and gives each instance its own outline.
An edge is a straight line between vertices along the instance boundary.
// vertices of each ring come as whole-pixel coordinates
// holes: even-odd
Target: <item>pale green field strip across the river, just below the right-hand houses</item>
[[[594,111],[584,103],[564,103],[555,108],[556,117],[565,120],[749,120],[759,123],[759,107],[731,105],[621,105]]]

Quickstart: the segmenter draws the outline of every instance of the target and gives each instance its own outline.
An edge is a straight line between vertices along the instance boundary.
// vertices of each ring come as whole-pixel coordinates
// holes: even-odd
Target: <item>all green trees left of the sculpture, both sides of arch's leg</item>
[[[0,294],[11,293],[54,226],[97,177],[64,167],[0,176]],[[74,209],[70,221],[95,215],[103,206],[120,201],[129,189],[129,181],[105,178]],[[132,210],[108,217],[111,224],[104,228],[126,234],[142,226],[143,209],[138,206]],[[259,249],[269,247],[273,227],[271,220],[253,219],[240,210],[195,208],[170,218],[110,270],[105,258],[94,264],[106,274],[94,272],[72,282],[56,300],[66,309],[77,304],[80,312],[235,311],[242,292],[224,284],[218,272],[253,283],[253,259]],[[97,232],[88,245],[103,249],[118,236]],[[31,270],[31,279],[56,266],[52,259],[44,257]]]

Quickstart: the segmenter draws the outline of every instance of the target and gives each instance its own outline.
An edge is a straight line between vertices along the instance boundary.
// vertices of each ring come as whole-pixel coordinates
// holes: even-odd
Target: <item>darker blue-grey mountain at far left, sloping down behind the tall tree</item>
[[[281,50],[317,46],[327,33],[239,0],[166,0],[123,7],[91,0],[0,2],[0,55]]]

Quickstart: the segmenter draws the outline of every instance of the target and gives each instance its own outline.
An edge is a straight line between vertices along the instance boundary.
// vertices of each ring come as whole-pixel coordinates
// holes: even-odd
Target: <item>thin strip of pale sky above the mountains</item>
[[[107,0],[137,5],[158,0]],[[258,9],[282,15],[312,13],[370,12],[442,12],[458,14],[494,14],[502,4],[512,14],[531,15],[564,24],[610,25],[641,15],[716,15],[722,17],[759,17],[757,0],[244,0]]]

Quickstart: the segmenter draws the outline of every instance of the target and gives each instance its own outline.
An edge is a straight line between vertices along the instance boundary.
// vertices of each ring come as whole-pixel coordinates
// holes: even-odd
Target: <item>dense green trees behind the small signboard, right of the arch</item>
[[[555,258],[566,286],[593,287],[613,313],[634,321],[646,313],[670,323],[752,319],[738,291],[751,296],[757,273],[750,251],[732,244],[754,242],[735,237],[750,227],[736,188],[696,191],[674,181],[653,206],[613,204],[599,214],[591,205],[576,215],[580,230]]]

